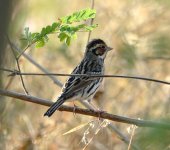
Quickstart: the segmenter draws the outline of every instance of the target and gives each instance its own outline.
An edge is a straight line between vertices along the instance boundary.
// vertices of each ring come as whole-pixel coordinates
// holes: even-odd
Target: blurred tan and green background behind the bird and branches
[[[25,27],[32,32],[41,31],[59,17],[91,7],[91,0],[29,0],[11,1],[7,24],[10,39],[24,48],[20,40]],[[6,6],[1,3],[1,7]],[[101,38],[114,48],[105,62],[106,74],[133,75],[170,81],[170,1],[168,0],[95,0],[97,11],[94,23],[99,25],[91,39]],[[5,12],[5,11],[4,11]],[[1,20],[2,21],[2,20]],[[3,24],[5,22],[1,22]],[[6,26],[7,27],[7,26]],[[67,47],[57,35],[50,35],[43,48],[30,47],[26,54],[53,73],[70,73],[81,61],[88,33],[78,33],[78,39]],[[2,41],[1,41],[2,42]],[[4,48],[6,46],[6,49]],[[9,45],[1,50],[4,68],[17,69]],[[2,58],[1,58],[2,61]],[[22,72],[40,72],[24,57],[20,58]],[[1,72],[1,86],[24,93],[19,77],[7,77]],[[66,77],[57,77],[62,83]],[[45,76],[24,76],[30,95],[55,101],[61,88]],[[4,100],[5,101],[2,101]],[[75,150],[86,145],[98,129],[93,117],[56,112],[51,118],[43,117],[47,107],[1,97],[0,149],[6,150]],[[66,103],[73,106],[71,102]],[[76,102],[79,107],[83,107]],[[170,87],[154,82],[132,79],[107,78],[94,104],[112,114],[147,120],[170,118]],[[81,124],[94,121],[94,127],[85,126],[71,134],[62,135]],[[112,122],[125,136],[130,125]],[[89,128],[89,130],[88,130]],[[89,131],[86,134],[86,131]],[[170,132],[150,128],[137,128],[132,140],[139,149],[170,149]],[[107,127],[100,129],[86,149],[121,150],[128,145]]]

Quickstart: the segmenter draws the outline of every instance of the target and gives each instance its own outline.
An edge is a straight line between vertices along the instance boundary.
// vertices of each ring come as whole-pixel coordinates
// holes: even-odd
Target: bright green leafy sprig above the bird
[[[35,43],[35,47],[43,47],[49,40],[49,34],[57,33],[61,42],[70,45],[72,39],[77,38],[78,31],[92,31],[97,27],[95,25],[87,25],[79,23],[88,19],[95,18],[96,11],[94,9],[84,9],[74,12],[71,15],[59,18],[57,22],[52,23],[41,29],[41,32],[31,33],[29,27],[24,29],[23,38],[27,41],[28,45]],[[78,24],[79,23],[79,24]]]

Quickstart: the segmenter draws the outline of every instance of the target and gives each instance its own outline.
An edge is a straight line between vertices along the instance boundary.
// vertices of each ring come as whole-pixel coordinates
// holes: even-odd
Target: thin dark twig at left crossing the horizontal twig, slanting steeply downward
[[[10,39],[9,39],[8,36],[7,36],[7,40],[8,40],[8,43],[9,43],[10,47],[11,47],[11,50],[12,50],[12,52],[13,52],[13,55],[14,55],[14,57],[15,57],[18,70],[19,70],[19,72],[21,73],[21,68],[20,68],[20,65],[19,65],[19,59],[18,59],[17,56],[15,55],[15,51],[14,51],[14,48],[13,48],[13,44],[11,43],[11,41],[10,41]],[[22,83],[23,89],[24,89],[25,93],[28,94],[28,91],[27,91],[27,89],[26,89],[26,87],[25,87],[24,79],[23,79],[23,77],[22,77],[21,74],[20,74],[19,76],[20,76],[20,79],[21,79],[21,83]]]

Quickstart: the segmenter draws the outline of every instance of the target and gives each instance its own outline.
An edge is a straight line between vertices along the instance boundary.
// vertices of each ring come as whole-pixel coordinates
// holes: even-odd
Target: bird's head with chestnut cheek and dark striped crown
[[[108,51],[112,50],[101,39],[94,39],[86,46],[86,55],[91,55],[93,58],[104,59]]]

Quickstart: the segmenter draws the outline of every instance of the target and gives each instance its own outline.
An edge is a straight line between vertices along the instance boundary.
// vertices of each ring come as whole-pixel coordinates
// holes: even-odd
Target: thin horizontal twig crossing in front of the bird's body
[[[93,77],[93,78],[125,78],[125,79],[135,79],[135,80],[145,80],[145,81],[151,81],[151,82],[157,82],[162,84],[168,84],[170,85],[170,82],[158,80],[158,79],[152,79],[152,78],[146,78],[146,77],[139,77],[139,76],[126,76],[126,75],[93,75],[93,74],[65,74],[65,73],[21,73],[20,71],[13,71],[10,69],[4,69],[0,68],[2,71],[10,72],[9,76],[15,76],[15,75],[32,75],[32,76],[81,76],[81,77]]]

